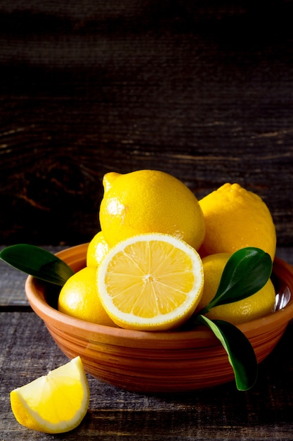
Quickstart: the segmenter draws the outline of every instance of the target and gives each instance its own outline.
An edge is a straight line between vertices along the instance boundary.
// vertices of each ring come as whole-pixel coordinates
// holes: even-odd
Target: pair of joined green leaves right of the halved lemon
[[[211,308],[237,302],[255,294],[271,277],[271,256],[259,248],[242,248],[230,257],[223,270],[218,290],[211,302],[198,311],[188,323],[204,325],[219,339],[228,354],[238,390],[249,390],[257,378],[257,361],[247,337],[231,323],[210,320],[204,316]]]

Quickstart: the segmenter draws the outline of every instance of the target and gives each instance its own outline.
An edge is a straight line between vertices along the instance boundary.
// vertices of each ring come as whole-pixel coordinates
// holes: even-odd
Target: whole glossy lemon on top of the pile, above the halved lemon
[[[158,170],[107,173],[100,204],[100,226],[113,247],[134,235],[162,232],[195,249],[204,239],[204,217],[193,192],[174,176]]]

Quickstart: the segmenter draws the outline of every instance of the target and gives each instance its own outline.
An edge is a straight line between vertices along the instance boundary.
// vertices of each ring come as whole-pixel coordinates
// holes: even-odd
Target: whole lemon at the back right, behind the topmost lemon
[[[275,257],[276,233],[268,206],[239,184],[226,183],[200,200],[206,233],[201,256],[256,247]]]

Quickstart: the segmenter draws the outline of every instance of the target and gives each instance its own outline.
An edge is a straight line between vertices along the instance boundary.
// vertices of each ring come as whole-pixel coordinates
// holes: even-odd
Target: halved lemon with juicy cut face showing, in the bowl
[[[100,301],[122,328],[176,328],[195,311],[203,282],[197,251],[162,233],[119,242],[98,267]]]

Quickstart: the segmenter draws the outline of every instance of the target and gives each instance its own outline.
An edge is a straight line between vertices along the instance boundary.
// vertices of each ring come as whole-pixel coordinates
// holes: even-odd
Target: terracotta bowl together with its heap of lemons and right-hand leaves
[[[235,378],[252,387],[251,366],[293,317],[293,268],[275,257],[266,204],[237,184],[197,201],[157,170],[108,173],[103,185],[101,230],[57,254],[73,275],[63,286],[29,275],[25,285],[58,347],[89,374],[136,392]],[[237,365],[252,354],[251,378],[239,380]]]

